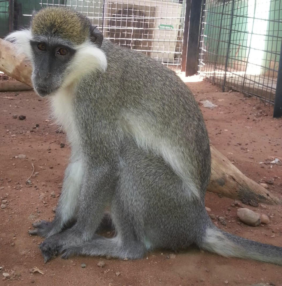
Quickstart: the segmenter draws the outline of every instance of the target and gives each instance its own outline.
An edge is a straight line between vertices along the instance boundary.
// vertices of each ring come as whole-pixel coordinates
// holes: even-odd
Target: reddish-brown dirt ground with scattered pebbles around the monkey
[[[210,100],[218,105],[209,109],[200,104],[211,143],[254,181],[271,180],[270,192],[281,198],[282,166],[260,164],[269,158],[282,159],[282,119],[272,118],[273,108],[237,92],[222,93],[204,81],[187,85],[198,102]],[[34,92],[2,92],[0,102],[0,199],[4,205],[0,209],[0,285],[282,285],[281,266],[224,258],[193,248],[175,256],[157,250],[138,261],[57,257],[44,264],[38,249],[42,239],[27,231],[35,220],[53,219],[70,147],[65,134],[57,133],[58,127],[48,117],[47,102]],[[26,119],[19,120],[19,115]],[[31,184],[26,184],[32,164],[35,171]],[[226,217],[226,226],[213,220],[219,228],[282,247],[281,206],[245,206],[271,216],[268,225],[250,227],[239,222],[238,207],[232,207],[232,202],[207,193],[210,213]],[[105,267],[98,267],[99,261],[105,261]],[[31,273],[33,267],[44,275]]]

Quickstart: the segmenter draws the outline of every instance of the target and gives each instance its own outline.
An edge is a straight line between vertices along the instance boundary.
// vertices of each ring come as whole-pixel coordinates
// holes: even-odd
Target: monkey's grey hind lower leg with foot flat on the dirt
[[[142,202],[132,200],[130,193],[136,191],[136,177],[126,166],[120,173],[112,198],[111,217],[117,236],[105,238],[94,235],[92,240],[81,244],[72,244],[60,249],[62,258],[71,255],[104,256],[124,259],[141,258],[147,252],[144,235]]]

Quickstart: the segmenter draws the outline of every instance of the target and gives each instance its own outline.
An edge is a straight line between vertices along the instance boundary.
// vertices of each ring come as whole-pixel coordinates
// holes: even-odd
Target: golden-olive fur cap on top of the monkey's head
[[[31,21],[31,32],[37,35],[59,36],[82,44],[90,33],[90,22],[77,12],[64,7],[46,7]]]

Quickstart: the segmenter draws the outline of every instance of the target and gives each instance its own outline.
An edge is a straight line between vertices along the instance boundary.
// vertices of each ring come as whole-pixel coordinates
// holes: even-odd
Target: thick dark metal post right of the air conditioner
[[[186,77],[196,74],[199,54],[199,31],[201,24],[202,0],[191,0],[190,20],[186,56]]]

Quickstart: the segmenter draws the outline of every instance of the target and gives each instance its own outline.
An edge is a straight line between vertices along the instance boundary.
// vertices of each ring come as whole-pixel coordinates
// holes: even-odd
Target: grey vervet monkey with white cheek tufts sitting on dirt
[[[219,230],[205,210],[211,155],[200,109],[177,75],[103,40],[71,9],[47,7],[8,40],[31,59],[32,83],[51,101],[71,144],[55,219],[33,224],[56,253],[143,257],[199,248],[282,265],[282,248]],[[110,207],[113,238],[97,234]],[[72,225],[71,222],[73,222]]]

